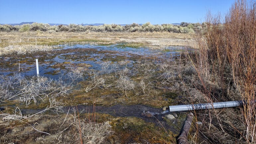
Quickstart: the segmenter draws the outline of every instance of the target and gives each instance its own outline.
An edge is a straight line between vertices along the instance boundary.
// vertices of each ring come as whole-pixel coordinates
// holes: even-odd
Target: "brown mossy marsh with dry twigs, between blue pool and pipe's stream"
[[[177,96],[183,92],[175,84],[181,83],[179,73],[185,75],[193,71],[191,69],[185,65],[180,67],[176,60],[143,58],[134,62],[104,62],[100,70],[88,73],[88,79],[82,82],[83,88],[76,95],[82,99],[80,103],[97,101],[104,106],[139,103],[162,107],[170,102],[179,103]]]

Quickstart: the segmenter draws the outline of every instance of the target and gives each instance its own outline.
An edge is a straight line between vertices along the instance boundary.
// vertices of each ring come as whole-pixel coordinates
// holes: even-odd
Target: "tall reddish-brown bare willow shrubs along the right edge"
[[[230,99],[230,90],[239,92],[234,98],[244,101],[240,123],[246,127],[235,131],[246,142],[255,142],[256,138],[255,11],[255,1],[238,0],[225,16],[224,24],[220,15],[208,14],[206,35],[199,36],[196,55],[196,70],[201,81],[199,89],[205,98],[210,102],[226,101]],[[217,121],[223,120],[217,118]]]

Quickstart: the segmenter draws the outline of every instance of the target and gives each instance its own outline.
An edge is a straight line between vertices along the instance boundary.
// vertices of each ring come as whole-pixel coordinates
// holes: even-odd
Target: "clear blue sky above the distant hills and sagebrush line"
[[[0,0],[0,24],[167,24],[204,22],[234,0]]]

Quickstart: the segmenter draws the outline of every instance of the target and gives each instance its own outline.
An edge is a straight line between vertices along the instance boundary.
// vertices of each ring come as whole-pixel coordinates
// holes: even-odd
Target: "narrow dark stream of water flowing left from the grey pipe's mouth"
[[[104,113],[104,114],[110,114],[115,117],[138,117],[143,119],[146,122],[152,122],[155,123],[156,126],[162,127],[164,126],[165,128],[171,130],[173,133],[179,133],[179,130],[174,128],[173,125],[180,125],[178,123],[179,121],[184,121],[184,118],[180,118],[177,120],[177,118],[172,120],[172,125],[168,124],[166,120],[164,120],[162,117],[165,114],[170,114],[172,112],[167,112],[165,114],[155,114],[154,116],[145,116],[143,115],[143,111],[148,111],[148,112],[154,112],[154,113],[161,113],[162,109],[160,108],[152,108],[144,105],[130,105],[130,106],[122,106],[122,105],[114,105],[111,107],[103,107],[103,106],[87,106],[87,105],[77,105],[76,106],[69,106],[69,107],[63,107],[64,113],[68,112],[68,109],[70,111],[76,111],[78,110],[80,113],[90,113],[93,112],[93,108],[95,108],[95,111],[97,113]],[[23,114],[35,114],[40,111],[43,111],[43,109],[21,109]],[[70,112],[69,111],[69,112]]]

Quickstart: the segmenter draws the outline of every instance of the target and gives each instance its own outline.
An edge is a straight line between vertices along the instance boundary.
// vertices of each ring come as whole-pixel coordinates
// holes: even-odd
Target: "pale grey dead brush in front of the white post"
[[[31,103],[36,105],[39,101],[45,103],[67,96],[81,79],[83,72],[75,68],[62,74],[58,80],[43,76],[24,77],[20,74],[1,76],[0,103],[16,100],[27,106]]]

